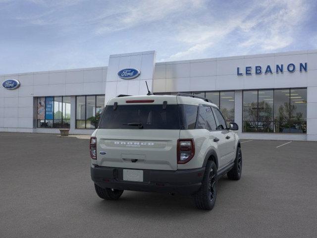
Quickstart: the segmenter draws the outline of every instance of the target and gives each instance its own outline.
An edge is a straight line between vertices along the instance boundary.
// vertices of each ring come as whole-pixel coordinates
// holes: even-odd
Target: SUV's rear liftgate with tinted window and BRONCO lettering
[[[99,166],[177,170],[180,122],[176,97],[145,98],[116,98],[108,103],[96,134]]]

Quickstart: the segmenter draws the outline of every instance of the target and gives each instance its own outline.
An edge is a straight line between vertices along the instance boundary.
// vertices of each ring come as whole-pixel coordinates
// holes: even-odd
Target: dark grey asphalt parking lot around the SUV
[[[317,142],[242,142],[242,178],[220,179],[208,212],[160,193],[104,201],[89,140],[0,132],[0,237],[316,237]]]

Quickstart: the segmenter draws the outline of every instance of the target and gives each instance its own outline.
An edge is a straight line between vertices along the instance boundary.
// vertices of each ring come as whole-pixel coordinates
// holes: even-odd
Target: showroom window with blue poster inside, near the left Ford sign
[[[38,97],[37,127],[69,128],[70,97]]]

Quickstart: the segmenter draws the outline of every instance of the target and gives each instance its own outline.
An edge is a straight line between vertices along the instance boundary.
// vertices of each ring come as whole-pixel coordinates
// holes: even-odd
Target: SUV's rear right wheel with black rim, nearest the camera
[[[217,167],[213,161],[208,161],[202,186],[192,195],[198,209],[211,210],[217,197]]]

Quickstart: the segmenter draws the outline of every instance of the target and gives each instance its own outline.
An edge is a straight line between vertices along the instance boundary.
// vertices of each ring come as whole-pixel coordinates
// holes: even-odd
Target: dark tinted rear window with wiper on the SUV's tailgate
[[[130,123],[130,125],[128,125]],[[99,128],[101,129],[180,129],[177,105],[118,105],[106,106]]]

